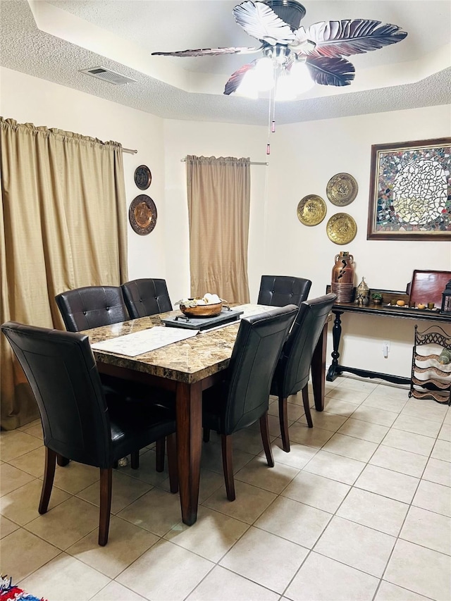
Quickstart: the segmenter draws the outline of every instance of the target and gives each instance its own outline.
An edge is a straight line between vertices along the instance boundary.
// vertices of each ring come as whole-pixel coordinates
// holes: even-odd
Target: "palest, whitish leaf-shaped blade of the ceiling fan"
[[[290,44],[295,39],[290,25],[285,23],[267,4],[247,0],[233,9],[238,25],[252,37],[274,44]]]

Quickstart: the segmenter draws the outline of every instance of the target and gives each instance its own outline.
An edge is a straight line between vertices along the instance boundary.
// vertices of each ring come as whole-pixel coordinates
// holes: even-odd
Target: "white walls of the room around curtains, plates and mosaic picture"
[[[310,296],[323,294],[340,250],[354,255],[355,283],[364,276],[369,287],[404,290],[414,268],[451,269],[450,242],[366,240],[371,144],[449,136],[450,106],[279,125],[271,135],[267,157],[266,125],[162,120],[6,68],[0,68],[0,80],[0,114],[5,118],[116,140],[138,150],[137,155],[124,154],[127,202],[142,193],[133,173],[144,163],[153,178],[145,193],[156,203],[158,221],[147,236],[138,236],[129,226],[129,276],[166,278],[173,301],[185,296],[190,286],[185,163],[180,162],[186,154],[269,161],[268,167],[252,166],[249,287],[253,301],[262,273],[310,278]],[[352,204],[338,209],[327,201],[326,185],[341,172],[356,178],[359,194]],[[328,207],[323,223],[312,228],[297,219],[297,204],[306,194],[319,194]],[[328,218],[341,210],[354,217],[358,228],[357,237],[345,246],[333,244],[326,235]],[[413,324],[344,316],[340,363],[409,376]],[[391,342],[388,359],[383,359],[382,340]],[[328,344],[330,351],[330,340]]]

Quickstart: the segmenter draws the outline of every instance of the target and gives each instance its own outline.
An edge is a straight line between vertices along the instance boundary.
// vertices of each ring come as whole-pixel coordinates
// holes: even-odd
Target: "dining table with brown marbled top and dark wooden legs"
[[[274,307],[242,304],[233,309],[247,317]],[[168,311],[108,326],[84,330],[89,336],[100,373],[146,383],[173,392],[175,395],[178,478],[182,519],[191,526],[197,520],[200,459],[202,451],[202,392],[224,376],[237,337],[240,319],[227,326],[202,330],[185,340],[142,352],[135,356],[121,354],[120,347],[112,352],[96,348],[98,343],[163,326],[164,321],[181,315],[180,310]],[[167,326],[165,326],[167,327]],[[326,326],[327,327],[327,324]],[[171,328],[175,329],[175,328]],[[161,330],[160,330],[161,331]],[[324,333],[323,333],[324,334]],[[118,341],[113,341],[116,344]],[[101,347],[102,345],[99,345]],[[323,408],[325,380],[325,337],[321,337],[312,362],[315,407]]]

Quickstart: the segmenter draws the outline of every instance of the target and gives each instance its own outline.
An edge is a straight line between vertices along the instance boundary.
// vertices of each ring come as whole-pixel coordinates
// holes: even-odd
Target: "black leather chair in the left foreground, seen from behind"
[[[171,492],[177,492],[175,414],[166,407],[127,403],[102,388],[87,335],[7,322],[1,330],[37,400],[46,449],[39,513],[47,512],[56,455],[100,469],[99,545],[106,545],[114,462],[168,437]]]

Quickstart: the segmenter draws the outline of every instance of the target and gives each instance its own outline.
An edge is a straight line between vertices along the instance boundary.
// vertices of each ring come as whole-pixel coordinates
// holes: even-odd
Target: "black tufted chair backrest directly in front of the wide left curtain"
[[[68,332],[80,332],[130,319],[121,286],[85,286],[55,297]]]

